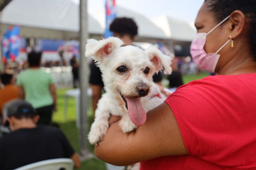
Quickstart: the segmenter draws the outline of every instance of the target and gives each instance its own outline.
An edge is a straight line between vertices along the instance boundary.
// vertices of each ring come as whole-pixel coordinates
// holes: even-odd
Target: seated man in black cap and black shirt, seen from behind
[[[36,110],[25,101],[7,108],[12,133],[0,138],[0,169],[56,158],[71,158],[75,167],[80,167],[79,158],[64,134],[54,127],[36,126],[38,119]]]

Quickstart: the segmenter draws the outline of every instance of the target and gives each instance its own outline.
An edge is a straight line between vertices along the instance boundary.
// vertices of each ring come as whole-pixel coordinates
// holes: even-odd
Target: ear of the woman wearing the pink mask
[[[239,10],[232,12],[230,15],[229,21],[231,22],[229,29],[231,31],[232,38],[235,39],[244,30],[244,25],[245,25],[244,13]]]

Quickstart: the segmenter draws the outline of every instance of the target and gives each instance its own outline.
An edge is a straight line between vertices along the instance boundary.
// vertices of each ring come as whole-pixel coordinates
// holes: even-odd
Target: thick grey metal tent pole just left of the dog
[[[92,158],[92,154],[88,149],[88,116],[89,102],[87,96],[89,70],[87,58],[85,54],[85,42],[88,38],[87,28],[87,0],[80,0],[80,67],[79,67],[79,82],[80,82],[80,121],[79,121],[79,152],[80,159],[85,160]]]

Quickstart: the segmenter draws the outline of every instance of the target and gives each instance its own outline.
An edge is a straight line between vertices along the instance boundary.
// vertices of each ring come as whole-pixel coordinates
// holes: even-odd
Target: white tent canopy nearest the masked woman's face
[[[168,39],[192,41],[196,35],[196,30],[189,23],[173,19],[167,15],[152,18],[152,22],[164,31]]]

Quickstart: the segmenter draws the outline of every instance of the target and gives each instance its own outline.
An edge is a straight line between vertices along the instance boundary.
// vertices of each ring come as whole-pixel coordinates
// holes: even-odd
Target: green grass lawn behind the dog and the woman
[[[188,83],[192,80],[201,79],[208,76],[208,73],[201,73],[198,75],[184,75],[184,83]],[[76,129],[76,106],[75,100],[72,97],[68,99],[68,119],[64,120],[64,101],[65,101],[65,91],[68,89],[58,89],[58,111],[53,115],[53,122],[56,122],[60,125],[60,129],[64,132],[68,141],[73,146],[76,152],[79,151],[78,144],[78,131]],[[91,99],[90,99],[91,100]],[[91,106],[91,105],[90,105]],[[89,124],[91,125],[93,121],[92,109],[90,109],[89,115]],[[90,151],[93,153],[93,146],[88,144]],[[105,163],[99,159],[88,159],[82,162],[80,169],[83,170],[105,170]]]

